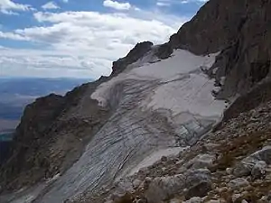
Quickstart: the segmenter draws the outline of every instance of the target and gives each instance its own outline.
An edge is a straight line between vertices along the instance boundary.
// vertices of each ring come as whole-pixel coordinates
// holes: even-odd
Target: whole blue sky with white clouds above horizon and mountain
[[[0,0],[0,77],[99,78],[167,42],[207,0]]]

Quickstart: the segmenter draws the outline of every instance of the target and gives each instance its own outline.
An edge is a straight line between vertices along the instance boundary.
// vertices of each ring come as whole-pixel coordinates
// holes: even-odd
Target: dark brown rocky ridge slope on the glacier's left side
[[[75,88],[65,97],[51,94],[26,106],[14,134],[12,156],[1,168],[2,189],[49,179],[79,158],[107,115],[84,95],[96,85]]]

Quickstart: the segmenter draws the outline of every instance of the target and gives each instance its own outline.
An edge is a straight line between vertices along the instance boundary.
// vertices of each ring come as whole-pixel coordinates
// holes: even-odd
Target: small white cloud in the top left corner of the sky
[[[31,5],[18,4],[11,0],[0,0],[0,13],[2,14],[16,14],[14,11],[27,11],[32,9]]]

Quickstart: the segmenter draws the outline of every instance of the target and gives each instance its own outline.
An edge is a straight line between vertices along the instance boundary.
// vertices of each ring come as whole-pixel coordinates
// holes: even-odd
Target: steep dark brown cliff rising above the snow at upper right
[[[213,66],[219,82],[226,76],[218,97],[245,93],[270,72],[270,10],[266,0],[209,1],[167,47],[203,55],[221,51]]]

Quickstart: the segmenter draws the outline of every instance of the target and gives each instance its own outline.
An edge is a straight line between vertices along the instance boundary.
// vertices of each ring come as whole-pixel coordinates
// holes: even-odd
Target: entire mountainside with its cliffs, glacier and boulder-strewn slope
[[[110,77],[28,106],[1,202],[267,199],[270,10],[210,0],[170,42],[137,44]],[[180,153],[137,170],[169,148]]]

